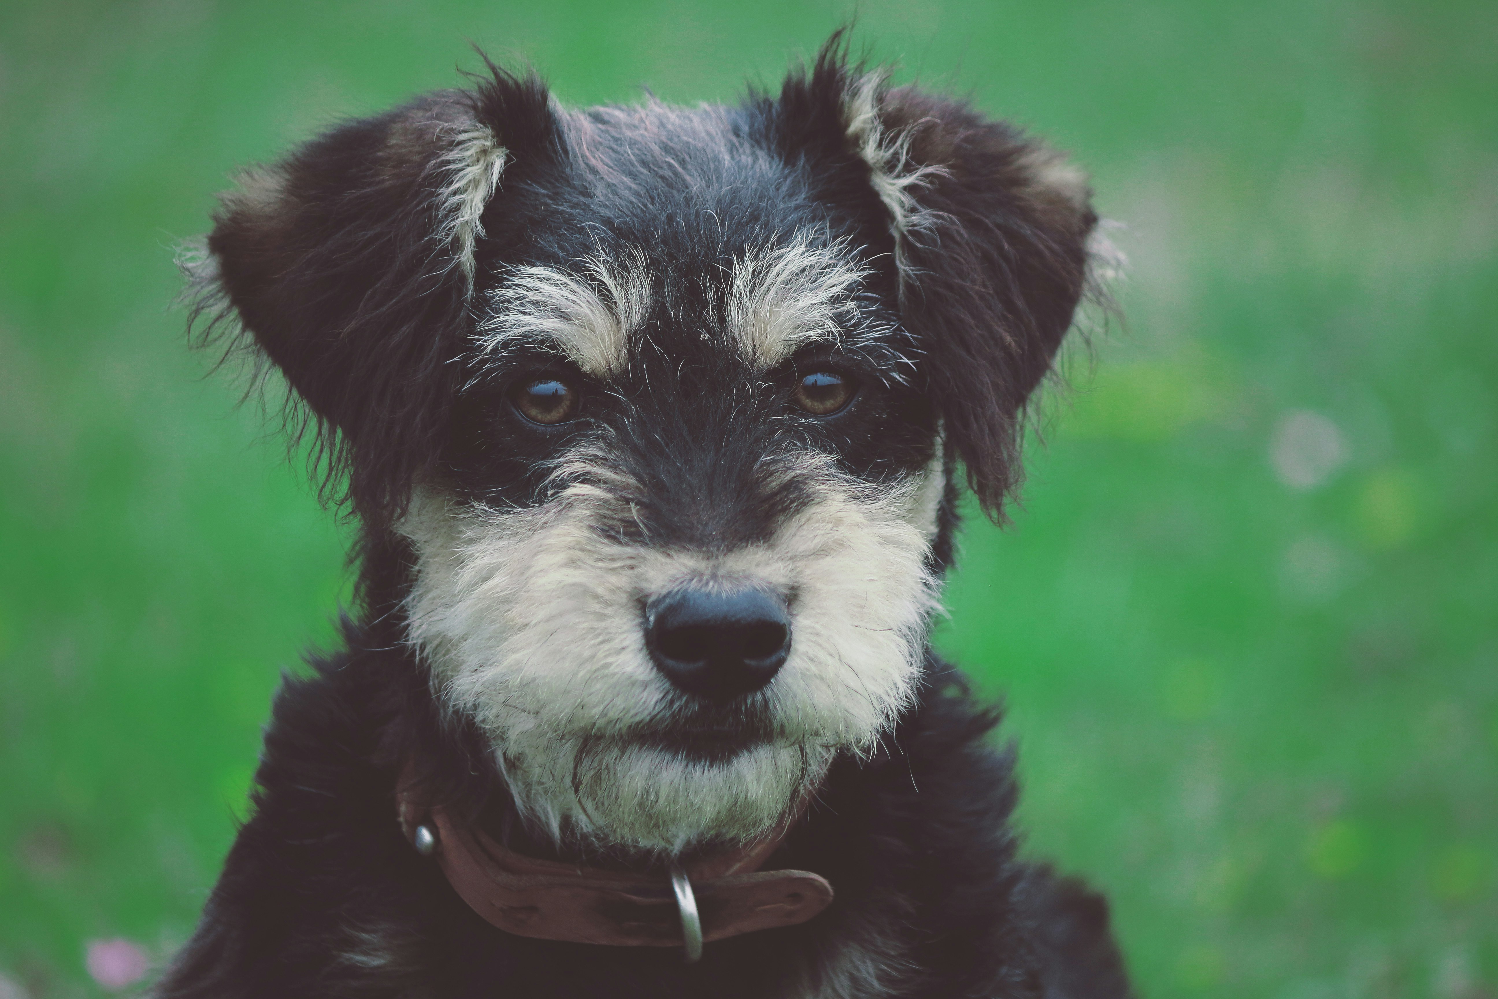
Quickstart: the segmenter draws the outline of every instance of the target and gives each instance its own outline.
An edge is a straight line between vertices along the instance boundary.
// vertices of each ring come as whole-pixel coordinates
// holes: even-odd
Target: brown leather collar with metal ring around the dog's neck
[[[683,924],[668,873],[638,875],[524,857],[481,830],[454,822],[440,806],[422,809],[407,792],[410,782],[401,785],[400,822],[406,839],[419,846],[421,839],[436,834],[442,873],[490,924],[544,941],[683,947]],[[749,846],[685,866],[703,941],[806,923],[831,903],[833,887],[821,875],[759,870],[800,812]],[[419,834],[421,827],[430,833]]]

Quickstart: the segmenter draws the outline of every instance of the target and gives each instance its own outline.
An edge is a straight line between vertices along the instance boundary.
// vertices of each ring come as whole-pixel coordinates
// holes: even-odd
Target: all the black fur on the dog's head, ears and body
[[[831,909],[713,944],[700,965],[671,950],[506,936],[406,842],[394,794],[413,767],[433,800],[511,845],[565,855],[517,818],[485,737],[437,702],[406,644],[415,563],[394,526],[415,484],[535,505],[556,488],[553,458],[586,440],[607,445],[634,484],[629,514],[601,526],[608,536],[733,550],[807,502],[794,481],[771,484],[767,463],[813,449],[878,484],[926,467],[941,427],[948,457],[1002,517],[1023,406],[1071,324],[1095,222],[1034,175],[1040,147],[1011,127],[881,88],[884,129],[908,138],[906,169],[938,168],[911,189],[927,226],[902,247],[902,276],[870,165],[845,135],[860,70],[837,39],[777,96],[721,114],[559,117],[539,81],[490,70],[472,91],[349,123],[252,175],[210,237],[210,294],[225,303],[210,337],[214,322],[243,324],[304,407],[327,482],[361,523],[361,610],[342,652],[285,681],[253,816],[156,995],[1126,996],[1103,900],[1016,860],[1013,759],[989,738],[998,714],[930,656],[918,707],[873,759],[833,765],[768,864],[824,875]],[[470,289],[433,232],[452,135],[476,126],[511,162],[484,208]],[[755,374],[703,333],[721,318],[695,276],[797,231],[870,274],[842,346]],[[514,268],[622,247],[644,247],[664,276],[640,334],[650,349],[628,370],[604,383],[539,344],[475,356],[481,303]],[[786,385],[816,364],[861,388],[845,412],[809,421],[786,407]],[[506,392],[518,374],[551,370],[584,386],[586,409],[538,430]],[[956,502],[948,473],[930,551],[942,571]]]

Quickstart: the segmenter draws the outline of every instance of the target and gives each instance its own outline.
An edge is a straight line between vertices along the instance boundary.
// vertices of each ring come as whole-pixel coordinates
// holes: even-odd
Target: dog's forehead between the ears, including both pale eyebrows
[[[565,169],[533,186],[524,240],[493,261],[481,355],[550,349],[605,379],[647,355],[765,370],[876,304],[878,255],[742,112],[559,114]]]

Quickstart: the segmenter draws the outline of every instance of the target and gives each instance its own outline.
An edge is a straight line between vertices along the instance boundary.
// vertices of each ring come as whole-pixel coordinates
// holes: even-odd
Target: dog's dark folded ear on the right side
[[[1025,403],[1086,285],[1091,190],[1082,171],[1013,126],[887,78],[849,67],[834,36],[809,72],[786,79],[782,144],[840,175],[828,199],[866,217],[867,198],[846,195],[848,159],[858,160],[864,192],[882,202],[900,312],[924,350],[948,452],[1002,521],[1023,473]],[[828,133],[839,139],[831,153]]]

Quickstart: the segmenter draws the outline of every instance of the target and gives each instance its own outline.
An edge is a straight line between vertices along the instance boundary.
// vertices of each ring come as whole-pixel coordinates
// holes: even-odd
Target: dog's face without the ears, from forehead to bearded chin
[[[661,849],[764,833],[906,704],[945,481],[872,270],[725,139],[683,144],[740,181],[688,174],[691,214],[547,192],[611,238],[509,247],[398,524],[412,635],[517,800]]]

